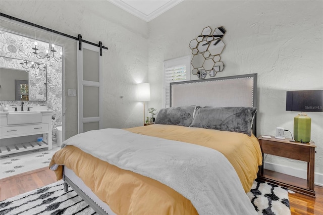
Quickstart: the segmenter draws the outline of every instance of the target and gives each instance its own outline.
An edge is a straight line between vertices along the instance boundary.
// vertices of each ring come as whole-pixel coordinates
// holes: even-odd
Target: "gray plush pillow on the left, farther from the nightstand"
[[[189,127],[193,121],[194,110],[195,105],[161,109],[157,114],[155,124]]]

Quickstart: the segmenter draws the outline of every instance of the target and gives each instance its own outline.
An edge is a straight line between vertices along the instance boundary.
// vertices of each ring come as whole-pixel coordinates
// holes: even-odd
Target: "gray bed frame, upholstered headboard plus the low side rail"
[[[257,108],[257,74],[171,83],[171,106],[251,106]],[[252,132],[256,135],[256,115]],[[78,193],[98,214],[115,214],[75,173],[64,167],[65,191],[68,186]]]

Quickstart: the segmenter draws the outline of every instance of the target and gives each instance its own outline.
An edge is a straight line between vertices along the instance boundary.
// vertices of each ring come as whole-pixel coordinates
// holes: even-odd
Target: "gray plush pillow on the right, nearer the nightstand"
[[[256,108],[251,107],[198,109],[190,127],[239,132],[251,136],[256,111]]]

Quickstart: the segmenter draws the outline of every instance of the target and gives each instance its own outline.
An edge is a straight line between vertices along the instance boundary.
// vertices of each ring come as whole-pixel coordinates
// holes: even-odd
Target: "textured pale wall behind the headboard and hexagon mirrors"
[[[257,135],[275,135],[277,126],[293,133],[297,113],[285,111],[286,91],[323,89],[322,8],[322,1],[183,1],[148,23],[149,107],[162,106],[163,61],[190,55],[189,42],[204,27],[224,26],[226,67],[216,77],[257,73]],[[323,176],[323,113],[308,115],[315,172]],[[306,169],[286,158],[268,155],[266,161]]]

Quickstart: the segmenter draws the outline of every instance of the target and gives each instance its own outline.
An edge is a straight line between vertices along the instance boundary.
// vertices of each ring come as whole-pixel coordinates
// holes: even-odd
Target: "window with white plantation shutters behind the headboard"
[[[164,61],[164,108],[170,107],[170,83],[190,80],[191,56]]]

